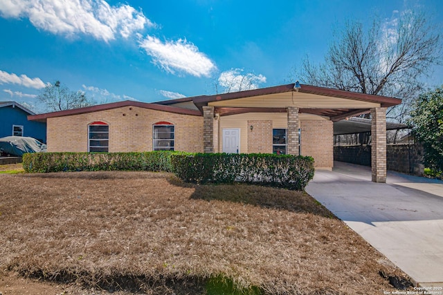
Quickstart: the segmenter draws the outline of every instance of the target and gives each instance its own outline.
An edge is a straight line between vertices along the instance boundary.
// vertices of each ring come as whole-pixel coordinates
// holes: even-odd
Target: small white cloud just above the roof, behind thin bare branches
[[[219,76],[219,84],[224,87],[224,92],[245,91],[257,89],[260,84],[266,83],[264,75],[255,75],[253,73],[243,74],[243,69],[232,68],[226,70]]]

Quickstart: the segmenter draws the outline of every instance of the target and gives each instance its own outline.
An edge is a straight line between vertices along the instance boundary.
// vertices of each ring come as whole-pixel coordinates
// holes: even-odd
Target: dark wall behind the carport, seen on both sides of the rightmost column
[[[420,144],[386,145],[388,170],[422,176],[424,150]],[[371,146],[334,146],[334,160],[371,166]]]

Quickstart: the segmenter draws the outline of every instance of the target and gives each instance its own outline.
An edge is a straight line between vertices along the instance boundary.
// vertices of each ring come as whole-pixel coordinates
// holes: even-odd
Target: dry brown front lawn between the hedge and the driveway
[[[150,172],[0,183],[1,269],[65,294],[383,294],[379,272],[407,278],[304,192]]]

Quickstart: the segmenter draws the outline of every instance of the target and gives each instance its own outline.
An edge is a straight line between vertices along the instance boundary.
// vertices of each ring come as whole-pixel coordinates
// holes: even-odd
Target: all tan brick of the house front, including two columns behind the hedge
[[[219,119],[221,120],[221,119]],[[288,108],[288,152],[298,155],[298,126],[302,129],[302,155],[314,158],[315,166],[331,169],[333,166],[332,122],[302,120],[298,108]],[[176,151],[213,153],[220,139],[219,121],[214,119],[214,108],[204,106],[204,117],[156,111],[136,106],[124,106],[105,111],[49,117],[47,119],[48,151],[88,151],[88,124],[102,121],[109,124],[109,152],[152,151],[152,125],[156,122],[174,124]],[[247,153],[272,153],[272,129],[275,120],[246,120]],[[246,125],[246,124],[245,124]],[[249,128],[254,126],[253,131]],[[278,127],[284,128],[284,126]],[[291,131],[292,134],[291,134]],[[246,140],[246,139],[245,139]],[[246,142],[245,142],[246,145]],[[219,146],[219,144],[217,144]],[[205,149],[206,147],[206,149]]]

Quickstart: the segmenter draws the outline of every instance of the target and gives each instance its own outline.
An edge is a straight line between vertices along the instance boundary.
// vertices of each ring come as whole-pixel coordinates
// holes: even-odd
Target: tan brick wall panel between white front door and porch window
[[[271,120],[248,120],[248,153],[272,153]]]

